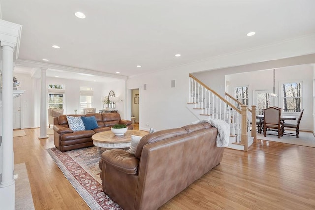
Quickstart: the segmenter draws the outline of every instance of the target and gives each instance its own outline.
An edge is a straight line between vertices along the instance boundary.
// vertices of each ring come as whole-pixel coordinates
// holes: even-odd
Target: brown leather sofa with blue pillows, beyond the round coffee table
[[[95,116],[98,128],[93,130],[82,130],[73,132],[68,125],[66,115],[54,118],[54,142],[55,147],[64,152],[83,147],[93,146],[92,135],[102,131],[110,130],[115,124],[125,124],[128,129],[133,129],[130,120],[122,120],[119,113],[91,113],[86,115],[70,116]]]

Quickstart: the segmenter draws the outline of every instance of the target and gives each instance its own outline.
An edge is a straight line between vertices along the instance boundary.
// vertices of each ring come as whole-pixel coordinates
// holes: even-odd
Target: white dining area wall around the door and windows
[[[302,82],[303,84],[303,117],[300,122],[300,130],[313,130],[313,66],[299,65],[275,69],[275,106],[282,107],[281,84],[288,82]],[[273,70],[252,71],[239,74],[226,75],[228,85],[227,92],[234,96],[234,88],[238,86],[249,86],[249,105],[253,105],[254,90],[273,90]],[[298,117],[299,113],[287,113]],[[291,120],[287,123],[296,123]]]

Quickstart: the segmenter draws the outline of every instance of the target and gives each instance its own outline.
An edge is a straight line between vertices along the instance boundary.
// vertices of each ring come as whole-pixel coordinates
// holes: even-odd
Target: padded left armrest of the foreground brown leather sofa
[[[103,164],[109,164],[123,173],[136,175],[139,159],[125,150],[111,149],[101,154],[101,159],[99,160],[100,169],[102,169]]]

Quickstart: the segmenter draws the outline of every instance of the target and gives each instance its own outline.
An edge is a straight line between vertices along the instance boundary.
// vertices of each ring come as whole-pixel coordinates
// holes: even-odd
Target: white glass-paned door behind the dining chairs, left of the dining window
[[[270,94],[273,90],[254,90],[253,104],[256,105],[256,114],[263,115],[264,109],[273,106]]]

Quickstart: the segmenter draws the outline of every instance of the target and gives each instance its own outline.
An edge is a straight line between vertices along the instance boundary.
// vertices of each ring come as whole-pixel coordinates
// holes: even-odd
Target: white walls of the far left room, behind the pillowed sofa
[[[21,90],[26,90],[22,95],[21,106],[23,119],[21,128],[33,128],[40,126],[40,78],[32,78],[27,74],[17,74],[14,76],[20,82],[18,86]],[[47,87],[48,84],[60,84],[65,86],[65,97],[64,97],[64,114],[74,114],[74,110],[80,108],[80,87],[92,87],[94,91],[93,95],[93,107],[103,109],[103,103],[101,99],[108,95],[110,90],[115,92],[116,96],[119,96],[124,101],[125,96],[125,81],[116,80],[113,83],[102,83],[102,82],[90,82],[81,80],[70,80],[56,77],[46,78]],[[47,90],[46,90],[47,91]],[[48,93],[47,93],[48,94]],[[48,103],[47,103],[48,106]],[[117,102],[116,109],[119,110],[121,116],[124,115],[125,106],[124,102]],[[122,116],[123,118],[123,116]],[[47,117],[48,124],[48,117]]]

